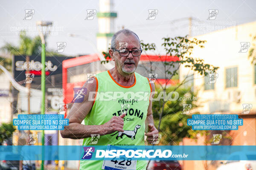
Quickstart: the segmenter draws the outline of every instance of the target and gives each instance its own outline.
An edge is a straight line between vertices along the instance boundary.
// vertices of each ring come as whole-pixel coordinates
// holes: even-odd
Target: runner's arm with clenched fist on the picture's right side
[[[151,85],[151,91],[152,93],[150,94],[150,99],[149,99],[149,105],[148,105],[148,113],[147,113],[147,118],[145,121],[145,125],[147,129],[148,127],[148,132],[145,134],[145,136],[147,136],[147,141],[149,143],[152,143],[153,141],[155,141],[156,139],[158,139],[158,130],[157,128],[154,126],[154,119],[153,119],[153,112],[152,112],[152,100],[153,96],[154,96],[154,91],[155,91],[155,87],[154,87],[154,83],[150,82]]]

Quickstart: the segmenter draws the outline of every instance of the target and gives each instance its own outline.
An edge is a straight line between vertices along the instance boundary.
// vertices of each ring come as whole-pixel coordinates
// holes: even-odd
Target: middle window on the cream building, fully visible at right
[[[237,87],[237,67],[226,68],[226,88]]]

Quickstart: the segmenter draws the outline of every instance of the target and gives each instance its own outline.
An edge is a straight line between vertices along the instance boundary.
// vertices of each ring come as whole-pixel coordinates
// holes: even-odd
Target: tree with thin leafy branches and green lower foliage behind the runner
[[[198,46],[200,48],[204,48],[203,44],[205,42],[206,41],[197,40],[196,38],[190,40],[187,38],[187,36],[174,38],[164,37],[163,44],[161,46],[164,48],[165,55],[160,55],[156,54],[156,45],[154,43],[144,43],[141,41],[140,43],[142,50],[149,59],[150,66],[144,66],[148,73],[155,73],[153,62],[150,60],[148,53],[153,53],[161,58],[160,62],[163,66],[166,82],[160,83],[159,80],[156,79],[155,91],[172,93],[178,92],[178,94],[181,96],[194,96],[195,94],[192,91],[189,91],[188,89],[185,90],[183,88],[183,85],[191,80],[190,76],[187,75],[180,83],[172,88],[168,88],[168,82],[172,81],[174,77],[178,76],[178,71],[181,65],[183,65],[185,68],[189,68],[195,74],[207,76],[209,73],[215,73],[218,67],[204,63],[203,59],[190,56],[194,47]],[[102,54],[105,55],[105,58],[107,59],[106,62],[108,62],[108,59],[110,58],[109,53],[102,52]],[[177,60],[169,62],[169,57],[177,57]],[[181,114],[181,111],[183,110],[181,105],[186,104],[186,102],[170,102],[168,98],[159,97],[158,95],[163,95],[163,93],[157,93],[157,95],[155,95],[154,98],[159,98],[160,100],[154,101],[152,108],[158,131],[160,133],[164,133],[164,142],[169,144],[178,144],[178,142],[185,136],[196,138],[197,131],[191,130],[191,127],[186,126],[186,120],[189,118],[189,116]],[[189,102],[187,102],[187,104],[189,104]],[[194,102],[191,102],[190,104],[192,105],[192,108],[197,107]],[[200,132],[203,133],[203,131]],[[171,136],[167,137],[167,135]]]

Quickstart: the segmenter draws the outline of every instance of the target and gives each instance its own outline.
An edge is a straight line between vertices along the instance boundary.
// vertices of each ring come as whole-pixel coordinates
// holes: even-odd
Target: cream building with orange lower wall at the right
[[[255,35],[256,22],[251,22],[195,37],[207,42],[204,48],[194,48],[191,56],[219,67],[215,83],[208,84],[209,76],[180,68],[180,81],[187,75],[193,77],[190,87],[198,91],[197,102],[202,105],[196,111],[201,114],[238,114],[243,119],[243,126],[239,126],[239,130],[229,130],[227,136],[231,140],[222,145],[256,144],[256,65],[248,59]],[[246,45],[250,47],[244,48]],[[244,112],[246,108],[248,110]],[[184,139],[183,144],[204,145],[204,137],[198,143]],[[184,170],[198,170],[203,167],[203,162],[186,161],[183,166]]]

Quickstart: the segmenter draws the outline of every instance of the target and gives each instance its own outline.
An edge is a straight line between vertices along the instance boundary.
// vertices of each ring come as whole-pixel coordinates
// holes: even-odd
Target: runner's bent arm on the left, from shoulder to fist
[[[90,112],[93,106],[93,100],[89,99],[90,92],[96,91],[97,82],[94,77],[92,77],[93,83],[85,83],[83,88],[87,88],[87,94],[84,96],[84,101],[81,103],[74,103],[70,112],[67,116],[69,119],[69,125],[64,126],[64,130],[61,130],[61,136],[63,138],[71,139],[83,139],[91,137],[91,134],[106,135],[111,134],[115,131],[123,132],[123,117],[113,116],[109,122],[103,125],[82,125],[81,122]],[[89,79],[88,81],[90,81]],[[88,100],[89,99],[89,100]]]

